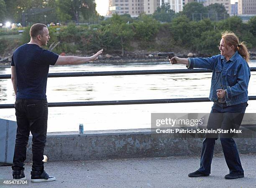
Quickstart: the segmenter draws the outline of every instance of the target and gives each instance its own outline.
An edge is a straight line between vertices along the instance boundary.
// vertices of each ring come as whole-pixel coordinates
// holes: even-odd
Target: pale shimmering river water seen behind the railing
[[[249,64],[256,67],[256,61]],[[168,62],[126,63],[50,67],[50,73],[115,70],[184,69]],[[10,74],[10,68],[0,68]],[[47,99],[52,102],[102,100],[139,100],[208,97],[212,73],[121,75],[49,78]],[[256,73],[251,72],[248,95],[256,95]],[[0,80],[0,104],[11,104],[15,94],[10,79]],[[248,101],[247,113],[256,112],[256,102]],[[106,105],[49,108],[48,132],[78,131],[79,123],[87,130],[150,128],[151,113],[210,113],[212,102],[148,105]],[[0,118],[15,120],[14,109],[0,109]]]

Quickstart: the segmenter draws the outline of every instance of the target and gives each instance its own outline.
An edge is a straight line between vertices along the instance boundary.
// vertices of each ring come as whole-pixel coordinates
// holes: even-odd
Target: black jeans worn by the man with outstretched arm
[[[46,143],[48,103],[47,100],[23,99],[15,101],[17,135],[12,168],[24,169],[29,133],[32,138],[32,170],[44,170],[44,146]]]

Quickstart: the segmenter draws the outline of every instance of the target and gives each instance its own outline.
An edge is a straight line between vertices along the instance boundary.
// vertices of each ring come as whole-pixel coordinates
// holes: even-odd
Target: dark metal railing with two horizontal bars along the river
[[[250,70],[256,71],[256,67]],[[79,73],[49,73],[49,78],[79,77],[79,76],[115,76],[115,75],[151,75],[151,74],[182,74],[182,73],[212,73],[208,69],[174,69],[174,70],[128,70],[128,71],[102,71],[102,72],[79,72]],[[0,75],[0,79],[10,79],[11,75]],[[256,100],[256,96],[249,96],[249,100]],[[86,101],[49,103],[49,107],[65,106],[96,106],[96,105],[132,105],[132,104],[157,104],[157,103],[194,103],[210,102],[208,98],[175,98],[175,99],[149,99],[149,100],[109,100],[109,101]],[[14,104],[0,104],[1,108],[14,108]]]

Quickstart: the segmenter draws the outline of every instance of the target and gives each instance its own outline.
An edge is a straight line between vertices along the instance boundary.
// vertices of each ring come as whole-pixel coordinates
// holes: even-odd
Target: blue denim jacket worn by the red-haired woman
[[[218,100],[218,89],[226,90],[225,100],[227,106],[245,103],[248,101],[248,83],[251,77],[248,63],[236,51],[226,60],[223,55],[211,58],[188,58],[188,69],[207,68],[212,70],[212,81],[209,99]]]

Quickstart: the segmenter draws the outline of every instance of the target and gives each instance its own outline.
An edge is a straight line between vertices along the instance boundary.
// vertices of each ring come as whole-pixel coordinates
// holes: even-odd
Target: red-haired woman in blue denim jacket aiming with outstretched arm
[[[209,99],[214,102],[207,123],[207,129],[238,129],[241,125],[248,101],[248,83],[250,68],[249,53],[244,43],[239,43],[234,33],[225,32],[220,40],[220,55],[211,58],[178,58],[170,59],[172,64],[182,63],[188,69],[207,68],[212,70]],[[235,115],[236,114],[236,115]],[[240,114],[240,115],[238,115]],[[235,122],[235,123],[231,123]],[[235,127],[234,127],[235,126]],[[225,179],[243,178],[243,168],[236,143],[231,135],[220,135],[229,174]],[[189,174],[189,177],[210,175],[215,140],[218,136],[207,134],[202,143],[200,168]]]

